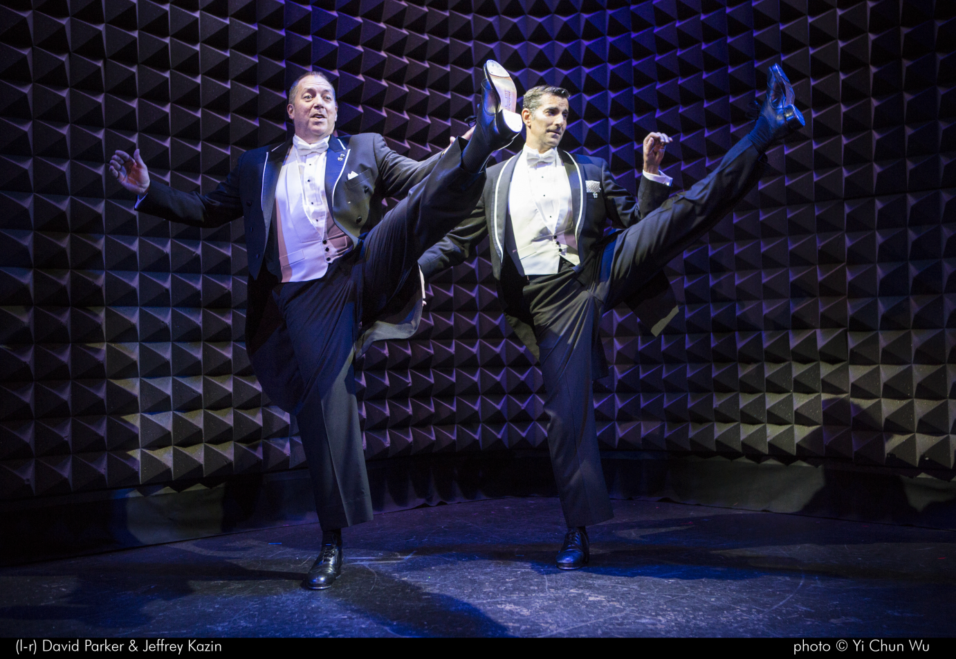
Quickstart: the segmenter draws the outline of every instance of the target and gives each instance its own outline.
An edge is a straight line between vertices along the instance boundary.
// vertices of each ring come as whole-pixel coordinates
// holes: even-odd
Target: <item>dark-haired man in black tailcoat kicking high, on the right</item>
[[[663,266],[747,194],[760,178],[764,152],[799,129],[803,117],[789,80],[773,65],[750,135],[704,180],[670,199],[670,181],[658,171],[670,138],[651,133],[635,201],[611,178],[607,162],[557,149],[568,96],[559,87],[528,90],[524,149],[489,167],[475,212],[419,264],[426,277],[458,265],[489,236],[498,297],[538,358],[547,393],[548,446],[568,525],[557,566],[576,569],[589,560],[586,527],[613,517],[593,399],[593,379],[607,371],[597,336],[601,314],[628,302],[646,327],[663,329],[676,311],[661,304],[670,292]],[[605,237],[608,223],[624,228]]]

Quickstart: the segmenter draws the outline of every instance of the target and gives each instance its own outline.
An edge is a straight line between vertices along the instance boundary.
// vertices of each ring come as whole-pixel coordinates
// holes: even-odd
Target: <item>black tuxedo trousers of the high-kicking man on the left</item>
[[[419,276],[424,250],[477,205],[485,176],[461,169],[461,153],[458,142],[450,146],[427,178],[324,277],[272,289],[305,385],[295,415],[323,529],[372,519],[356,401],[356,344],[361,328],[394,301],[407,278]]]

